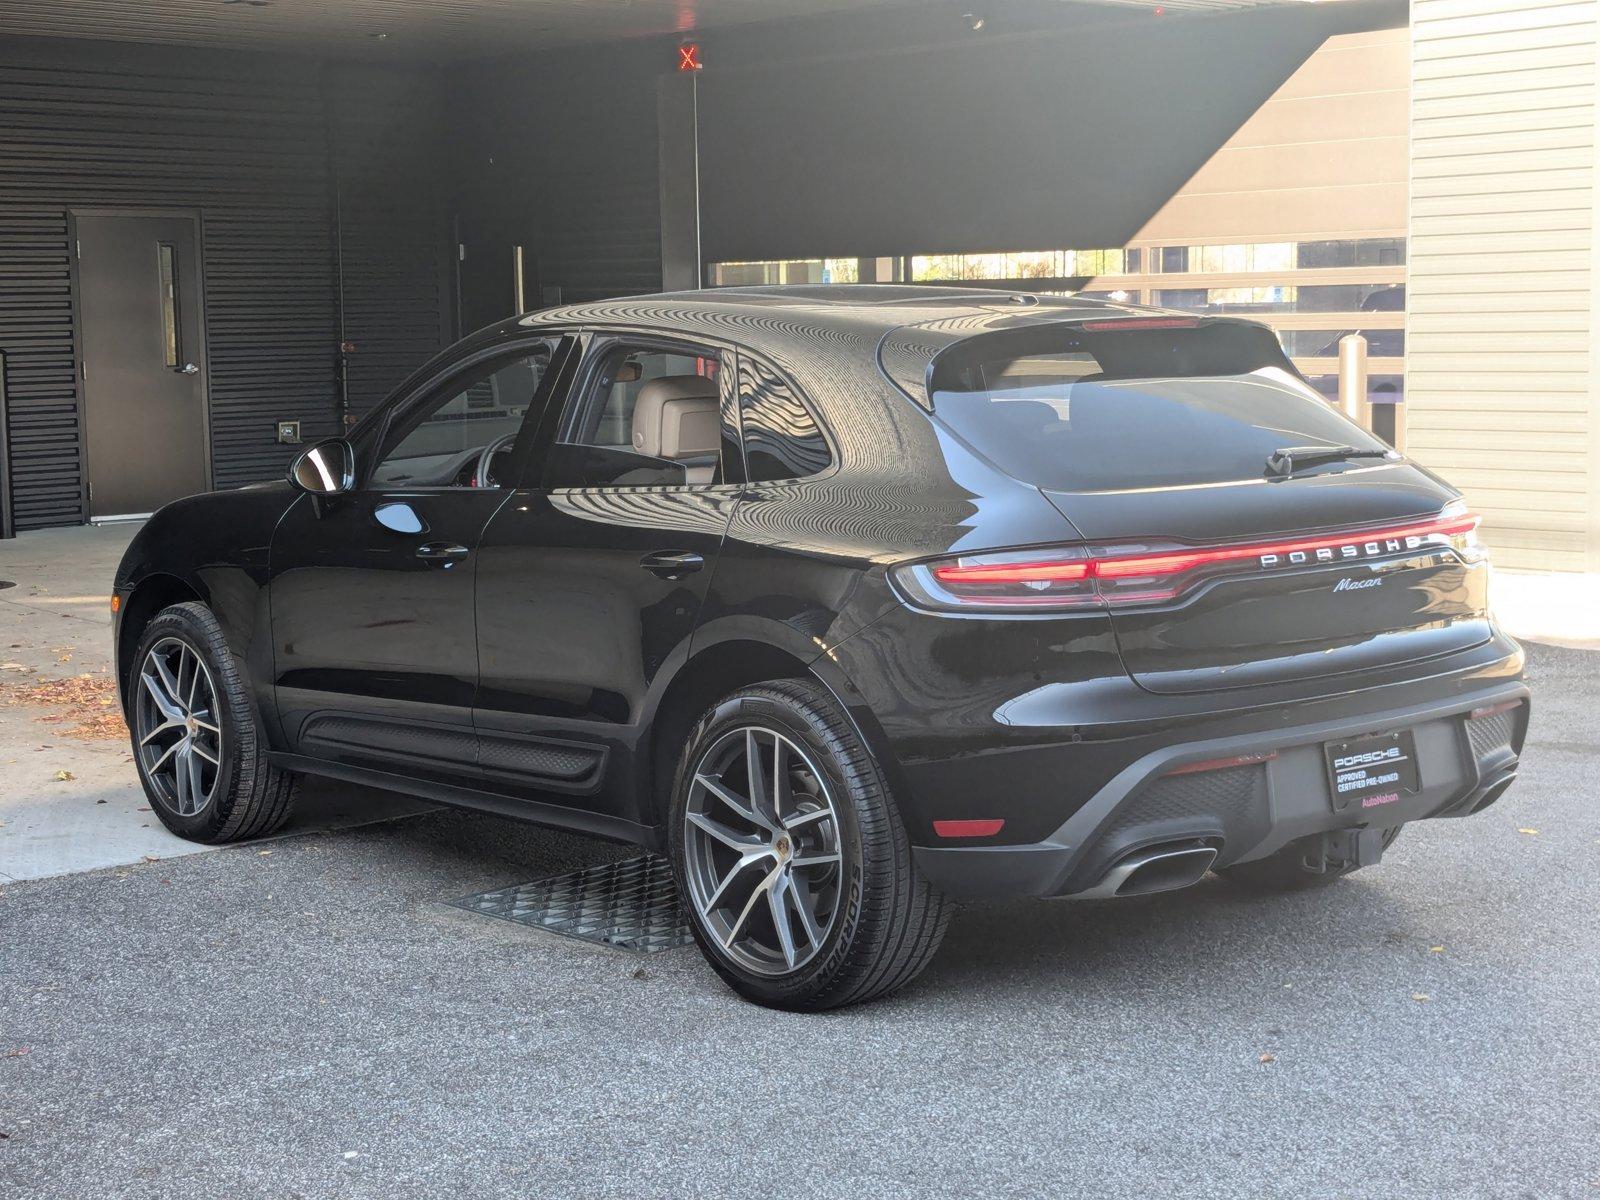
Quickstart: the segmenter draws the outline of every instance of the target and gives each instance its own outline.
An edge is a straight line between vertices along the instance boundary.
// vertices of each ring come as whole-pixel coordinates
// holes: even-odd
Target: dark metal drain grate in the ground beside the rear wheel
[[[672,867],[654,854],[570,870],[451,901],[458,909],[624,950],[672,950],[694,941]]]

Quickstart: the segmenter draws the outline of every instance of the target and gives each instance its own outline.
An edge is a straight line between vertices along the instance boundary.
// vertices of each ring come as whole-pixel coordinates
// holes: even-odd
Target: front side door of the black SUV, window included
[[[280,522],[274,683],[298,754],[475,782],[478,541],[566,347],[530,339],[435,373],[374,422],[354,491],[304,496]]]

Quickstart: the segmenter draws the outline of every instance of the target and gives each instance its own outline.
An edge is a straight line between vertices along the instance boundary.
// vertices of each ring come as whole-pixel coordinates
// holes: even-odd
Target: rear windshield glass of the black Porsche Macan
[[[942,352],[930,382],[941,422],[1051,491],[1227,483],[1261,478],[1283,446],[1384,448],[1258,325],[984,334]]]

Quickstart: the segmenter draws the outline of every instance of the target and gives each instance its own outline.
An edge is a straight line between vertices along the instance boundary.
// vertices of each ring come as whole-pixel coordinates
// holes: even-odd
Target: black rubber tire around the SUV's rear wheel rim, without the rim
[[[838,874],[827,885],[832,923],[816,939],[810,960],[792,971],[782,965],[768,973],[742,966],[714,941],[690,891],[685,846],[691,784],[702,757],[741,726],[782,734],[810,760],[806,770],[814,765],[834,797],[837,819],[816,822],[829,829],[838,851]],[[683,909],[707,962],[742,997],[771,1008],[821,1011],[904,987],[933,960],[949,923],[947,901],[917,874],[910,840],[877,760],[838,704],[811,682],[744,688],[699,720],[678,760],[669,845]],[[798,864],[803,851],[798,842],[795,846]],[[776,906],[781,909],[781,901]]]

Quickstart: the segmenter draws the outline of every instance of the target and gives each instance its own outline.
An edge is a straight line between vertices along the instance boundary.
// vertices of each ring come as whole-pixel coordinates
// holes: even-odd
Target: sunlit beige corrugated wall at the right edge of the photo
[[[1413,0],[1408,453],[1504,566],[1600,570],[1595,0]]]

